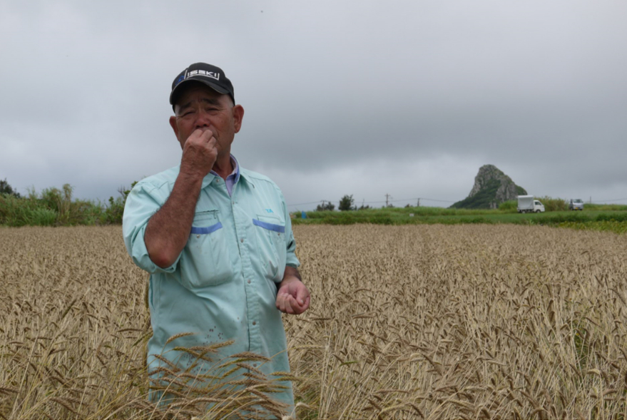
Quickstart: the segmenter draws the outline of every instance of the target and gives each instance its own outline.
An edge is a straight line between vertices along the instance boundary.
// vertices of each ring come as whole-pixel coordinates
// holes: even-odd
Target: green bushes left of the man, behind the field
[[[2,181],[0,181],[2,182]],[[131,185],[131,188],[136,183]],[[109,198],[108,205],[91,200],[72,200],[73,188],[46,188],[40,194],[29,190],[26,197],[13,193],[4,180],[0,193],[0,225],[4,226],[76,226],[121,224],[126,197],[130,190],[121,188],[121,197]]]

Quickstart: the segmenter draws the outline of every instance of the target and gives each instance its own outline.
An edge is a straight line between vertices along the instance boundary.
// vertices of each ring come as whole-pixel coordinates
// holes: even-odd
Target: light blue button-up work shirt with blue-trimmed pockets
[[[194,367],[190,354],[173,348],[228,340],[235,342],[219,354],[209,354],[214,362],[254,352],[272,359],[255,366],[268,378],[290,370],[281,312],[275,307],[276,284],[285,266],[300,265],[290,215],[272,180],[240,168],[236,161],[234,166],[232,194],[219,176],[209,173],[203,179],[187,245],[167,268],[150,259],[144,234],[148,220],[168,200],[179,168],[141,180],[128,195],[123,217],[126,249],[138,267],[151,273],[149,371],[167,367],[155,357],[160,355],[191,374],[204,374],[212,363]],[[194,334],[165,344],[184,332]],[[291,384],[281,384],[287,389],[275,397],[293,404]]]

